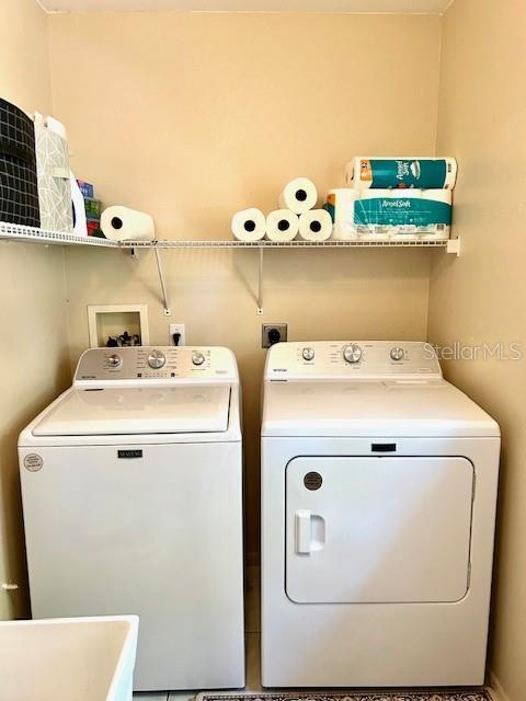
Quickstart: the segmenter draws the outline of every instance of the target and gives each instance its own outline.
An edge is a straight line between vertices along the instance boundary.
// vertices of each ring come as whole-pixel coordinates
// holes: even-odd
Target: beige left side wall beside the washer
[[[47,21],[34,0],[0,3],[0,95],[27,112],[52,108]],[[64,388],[68,340],[64,253],[0,243],[0,619],[26,612],[16,440],[20,429]]]

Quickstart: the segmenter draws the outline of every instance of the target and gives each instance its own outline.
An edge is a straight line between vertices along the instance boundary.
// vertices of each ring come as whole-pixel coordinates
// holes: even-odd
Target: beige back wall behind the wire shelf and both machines
[[[55,113],[106,204],[150,211],[160,238],[230,238],[231,212],[273,208],[291,176],[323,191],[357,152],[433,153],[439,34],[436,16],[56,15]],[[254,252],[170,252],[164,264],[187,342],[225,344],[240,363],[254,552],[261,323],[287,322],[290,338],[423,337],[428,252],[267,253],[263,317]],[[167,342],[151,253],[71,249],[67,269],[75,357],[88,303],[147,302],[151,342]]]

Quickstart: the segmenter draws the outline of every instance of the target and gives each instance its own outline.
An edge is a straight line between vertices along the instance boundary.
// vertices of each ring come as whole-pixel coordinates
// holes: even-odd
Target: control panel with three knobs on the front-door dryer
[[[265,379],[442,377],[435,348],[420,341],[316,341],[277,343]]]

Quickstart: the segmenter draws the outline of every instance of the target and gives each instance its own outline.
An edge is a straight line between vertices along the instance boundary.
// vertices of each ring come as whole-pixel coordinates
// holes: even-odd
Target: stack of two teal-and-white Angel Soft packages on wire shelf
[[[454,158],[356,157],[325,198],[333,237],[448,239],[456,176]]]

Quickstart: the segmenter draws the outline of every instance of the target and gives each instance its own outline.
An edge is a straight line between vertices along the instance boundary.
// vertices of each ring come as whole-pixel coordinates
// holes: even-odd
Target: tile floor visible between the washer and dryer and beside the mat
[[[256,566],[247,567],[245,581],[245,646],[247,688],[245,691],[261,691],[260,675],[260,572]],[[188,701],[197,691],[162,691],[134,693],[136,701]]]

